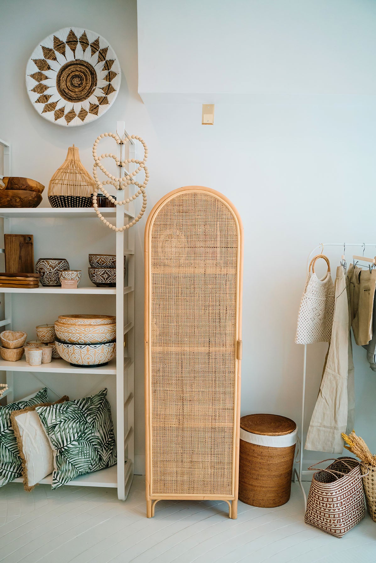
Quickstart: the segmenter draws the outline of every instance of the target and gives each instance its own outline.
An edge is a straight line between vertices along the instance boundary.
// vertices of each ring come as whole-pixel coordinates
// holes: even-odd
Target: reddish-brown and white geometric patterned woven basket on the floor
[[[326,470],[314,473],[304,517],[306,524],[342,538],[364,514],[362,476],[356,459],[338,458]]]

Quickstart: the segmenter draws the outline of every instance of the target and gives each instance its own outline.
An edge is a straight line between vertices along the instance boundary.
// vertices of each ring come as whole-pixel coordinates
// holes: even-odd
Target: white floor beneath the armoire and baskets
[[[308,484],[307,484],[308,488]],[[21,484],[0,489],[3,563],[353,563],[376,561],[376,523],[368,515],[342,539],[304,524],[293,484],[279,508],[239,503],[229,520],[221,502],[161,501],[145,512],[144,479],[136,476],[126,502],[114,489]]]

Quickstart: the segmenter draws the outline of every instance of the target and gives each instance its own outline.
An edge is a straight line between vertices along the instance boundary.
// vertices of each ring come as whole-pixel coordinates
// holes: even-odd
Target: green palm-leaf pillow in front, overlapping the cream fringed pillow
[[[107,389],[84,399],[39,406],[36,411],[54,449],[52,489],[116,463]]]

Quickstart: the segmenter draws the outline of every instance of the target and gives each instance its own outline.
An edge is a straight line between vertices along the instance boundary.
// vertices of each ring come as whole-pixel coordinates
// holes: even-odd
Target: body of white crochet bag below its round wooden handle
[[[298,314],[297,344],[329,342],[334,313],[334,285],[330,272],[321,280],[309,272]]]

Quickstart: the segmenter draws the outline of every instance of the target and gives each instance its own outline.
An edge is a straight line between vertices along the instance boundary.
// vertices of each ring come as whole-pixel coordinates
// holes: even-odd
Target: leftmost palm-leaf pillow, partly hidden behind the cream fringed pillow
[[[25,409],[41,403],[48,403],[47,387],[43,387],[31,397],[0,406],[0,486],[14,481],[22,475],[22,463],[11,425],[11,414],[14,410]]]

